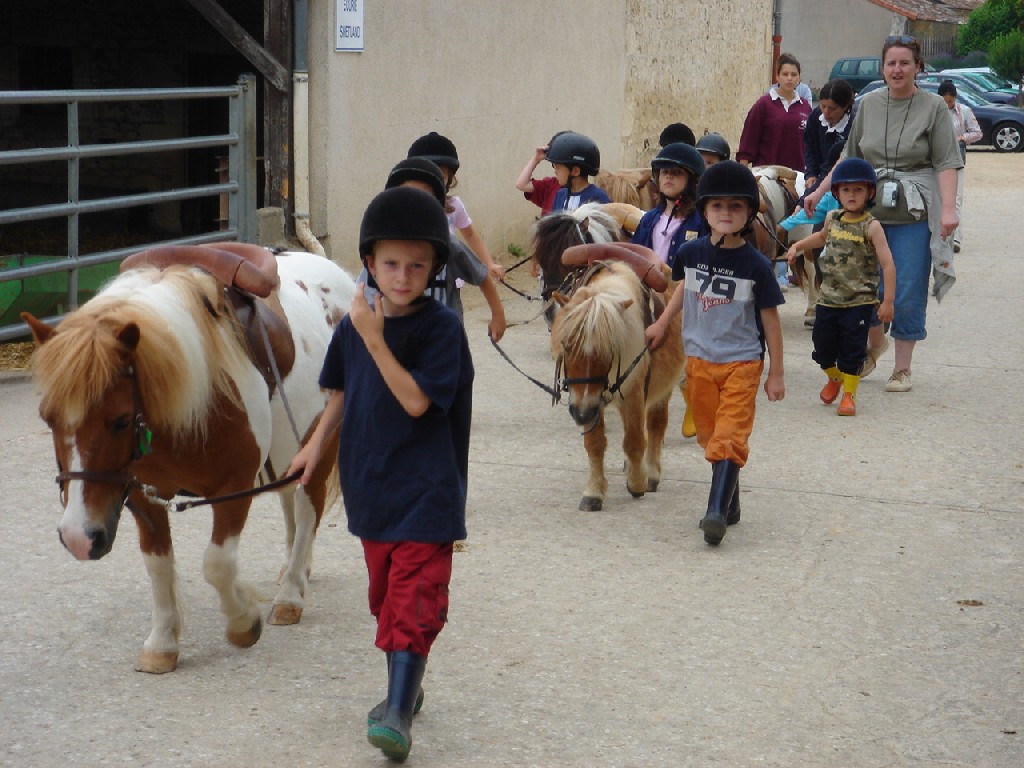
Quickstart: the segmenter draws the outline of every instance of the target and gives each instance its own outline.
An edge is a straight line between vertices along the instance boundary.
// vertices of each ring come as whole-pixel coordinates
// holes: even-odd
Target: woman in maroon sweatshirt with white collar
[[[797,94],[800,61],[792,53],[782,53],[775,74],[778,85],[746,113],[736,160],[743,165],[784,165],[803,171],[804,128],[811,104]]]

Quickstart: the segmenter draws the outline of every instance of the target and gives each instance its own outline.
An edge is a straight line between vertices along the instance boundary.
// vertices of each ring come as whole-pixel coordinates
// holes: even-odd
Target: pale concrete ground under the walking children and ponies
[[[679,400],[662,489],[631,499],[611,451],[605,510],[579,512],[586,461],[568,415],[498,357],[471,310],[470,539],[409,764],[1021,765],[1022,170],[1022,156],[970,156],[961,276],[930,307],[912,392],[883,392],[890,352],[855,419],[822,407],[791,291],[787,395],[762,397],[743,520],[718,549],[696,527],[710,470],[678,434]],[[510,315],[525,316],[517,301]],[[546,336],[517,328],[505,346],[547,378]],[[384,666],[340,512],[302,624],[245,651],[223,641],[202,579],[209,518],[182,514],[181,664],[141,675],[134,526],[99,562],[60,548],[35,408],[29,382],[0,382],[0,764],[387,764],[365,741]],[[282,540],[260,501],[243,567],[267,599]]]

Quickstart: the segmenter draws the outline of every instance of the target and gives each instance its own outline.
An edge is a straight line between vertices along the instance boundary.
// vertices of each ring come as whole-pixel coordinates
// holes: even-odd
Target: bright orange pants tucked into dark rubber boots
[[[727,459],[740,467],[751,453],[754,410],[764,360],[708,362],[686,358],[686,387],[697,442],[710,462]]]

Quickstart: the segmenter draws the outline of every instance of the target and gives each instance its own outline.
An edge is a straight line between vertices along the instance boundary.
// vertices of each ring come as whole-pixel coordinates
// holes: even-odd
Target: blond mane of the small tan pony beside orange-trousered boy
[[[632,280],[631,280],[632,279]],[[613,362],[629,354],[635,340],[643,337],[643,322],[637,311],[643,301],[639,280],[630,267],[610,264],[580,288],[555,316],[551,349],[566,354]],[[626,311],[622,303],[632,299]]]

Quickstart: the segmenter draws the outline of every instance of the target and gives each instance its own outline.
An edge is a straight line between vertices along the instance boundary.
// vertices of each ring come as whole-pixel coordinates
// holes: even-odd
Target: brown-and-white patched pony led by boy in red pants
[[[262,266],[241,258],[253,251],[262,253]],[[167,263],[191,261],[194,253],[226,260],[229,275],[221,281],[206,269]],[[241,244],[158,248],[126,264],[133,260],[138,268],[123,271],[58,327],[25,318],[38,344],[33,373],[40,414],[56,452],[60,541],[80,560],[99,559],[111,551],[122,507],[131,510],[154,600],[137,669],[164,673],[177,666],[181,629],[170,500],[177,494],[219,498],[211,499],[213,530],[203,572],[220,597],[228,641],[252,645],[260,636],[260,608],[238,564],[252,499],[234,497],[261,473],[271,480],[285,473],[298,450],[293,418],[300,439],[315,425],[326,402],[319,368],[355,286],[319,256],[284,253],[274,259]],[[231,305],[233,289],[225,291],[232,282],[243,289],[265,287],[265,302],[249,306],[279,310],[266,314],[262,330],[274,349],[270,365],[279,369],[281,387],[260,362],[265,347],[246,342],[244,311]],[[313,538],[337,492],[336,452],[337,438],[325,446],[308,485],[279,490],[288,552],[271,624],[301,615]]]

